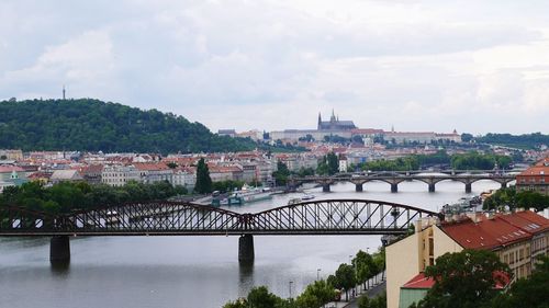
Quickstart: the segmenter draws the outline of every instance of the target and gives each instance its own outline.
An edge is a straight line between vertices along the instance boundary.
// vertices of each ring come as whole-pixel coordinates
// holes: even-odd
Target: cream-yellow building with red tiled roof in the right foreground
[[[535,256],[548,253],[548,242],[549,220],[529,210],[419,220],[414,235],[386,247],[388,307],[407,307],[410,303],[401,303],[401,287],[447,252],[492,250],[509,265],[515,281],[530,275]]]

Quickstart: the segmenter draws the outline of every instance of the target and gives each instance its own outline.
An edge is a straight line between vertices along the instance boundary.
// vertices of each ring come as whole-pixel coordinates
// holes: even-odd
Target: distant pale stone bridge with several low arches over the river
[[[435,192],[435,185],[441,181],[458,181],[466,185],[466,193],[472,191],[472,183],[481,180],[497,182],[502,187],[515,180],[515,172],[502,172],[494,170],[440,170],[440,171],[376,171],[360,173],[338,173],[332,176],[312,175],[304,178],[290,178],[288,185],[295,189],[303,183],[317,183],[322,185],[323,192],[329,192],[329,186],[336,182],[350,182],[355,184],[357,192],[362,192],[363,184],[372,181],[381,181],[391,185],[391,192],[399,191],[399,184],[404,181],[422,181],[428,185],[429,192]]]

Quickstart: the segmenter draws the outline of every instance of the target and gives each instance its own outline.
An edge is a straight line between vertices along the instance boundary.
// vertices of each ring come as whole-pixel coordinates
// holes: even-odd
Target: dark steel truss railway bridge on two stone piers
[[[103,206],[66,215],[0,206],[0,236],[52,237],[52,262],[70,260],[76,236],[239,236],[238,260],[254,260],[254,236],[403,235],[422,217],[417,207],[370,199],[325,199],[259,213],[182,202]]]

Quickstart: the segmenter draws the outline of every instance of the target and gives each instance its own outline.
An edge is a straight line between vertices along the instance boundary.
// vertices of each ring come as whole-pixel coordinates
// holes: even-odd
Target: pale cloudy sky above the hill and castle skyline
[[[94,98],[212,132],[549,134],[548,1],[2,0],[0,100]]]

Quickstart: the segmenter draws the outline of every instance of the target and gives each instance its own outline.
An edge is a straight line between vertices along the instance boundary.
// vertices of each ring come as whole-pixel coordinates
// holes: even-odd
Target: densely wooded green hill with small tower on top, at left
[[[250,150],[182,116],[99,100],[0,101],[0,148],[104,152]]]

